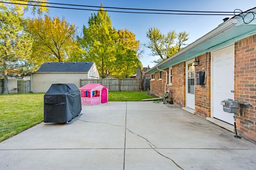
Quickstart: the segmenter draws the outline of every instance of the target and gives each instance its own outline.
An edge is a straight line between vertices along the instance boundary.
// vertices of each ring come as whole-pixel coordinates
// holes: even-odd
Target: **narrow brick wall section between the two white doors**
[[[211,116],[211,53],[207,53],[206,61],[205,57],[206,54],[197,56],[200,63],[195,66],[195,74],[197,71],[204,71],[206,76],[206,83],[203,86],[199,86],[196,85],[195,75],[195,112],[198,116],[204,118]]]

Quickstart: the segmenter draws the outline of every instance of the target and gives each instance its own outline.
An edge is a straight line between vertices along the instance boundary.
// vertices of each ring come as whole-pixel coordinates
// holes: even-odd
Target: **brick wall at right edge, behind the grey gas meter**
[[[236,123],[239,135],[256,141],[256,35],[235,43],[234,95],[236,100],[252,103]]]

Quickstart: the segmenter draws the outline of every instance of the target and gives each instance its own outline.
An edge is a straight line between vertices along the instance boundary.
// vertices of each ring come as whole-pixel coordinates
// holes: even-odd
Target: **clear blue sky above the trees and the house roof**
[[[83,5],[100,5],[116,6],[116,7],[131,7],[131,8],[158,8],[164,10],[194,10],[194,11],[234,11],[239,8],[246,11],[252,7],[256,7],[255,0],[214,0],[214,1],[145,1],[145,0],[49,0],[56,3],[70,3]],[[70,23],[75,23],[78,27],[78,33],[82,32],[83,25],[87,25],[91,11],[75,11],[50,8],[50,16],[59,16],[66,18]],[[156,27],[163,33],[171,30],[189,32],[188,43],[192,43],[205,33],[211,31],[222,22],[222,19],[227,16],[188,16],[188,15],[152,15],[152,14],[128,14],[128,13],[108,13],[112,25],[116,29],[129,29],[135,33],[136,38],[141,44],[146,43],[146,32],[150,27]],[[144,53],[140,58],[143,66],[154,66],[151,61],[157,57],[150,56],[150,50],[143,48]]]

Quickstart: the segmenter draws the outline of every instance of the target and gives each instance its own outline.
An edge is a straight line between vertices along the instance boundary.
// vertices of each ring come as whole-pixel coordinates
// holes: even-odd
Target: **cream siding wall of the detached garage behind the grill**
[[[33,73],[32,91],[46,92],[53,83],[74,83],[79,88],[80,79],[88,79],[87,73]]]

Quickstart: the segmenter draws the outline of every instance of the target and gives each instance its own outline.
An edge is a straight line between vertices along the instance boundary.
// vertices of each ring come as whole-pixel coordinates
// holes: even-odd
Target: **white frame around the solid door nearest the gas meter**
[[[221,50],[223,48],[227,48],[229,46],[234,46],[234,50],[235,50],[235,44],[232,43],[232,44],[228,44],[228,45],[222,46],[218,49],[214,49],[214,50],[211,51],[211,71],[210,71],[211,72],[211,113],[210,113],[211,118],[213,118],[213,52],[217,52],[218,50]],[[234,54],[234,60],[235,60],[235,54]],[[235,64],[235,62],[234,62],[234,64]],[[235,67],[235,65],[234,65],[234,67]],[[235,86],[235,82],[234,82],[234,86]]]

